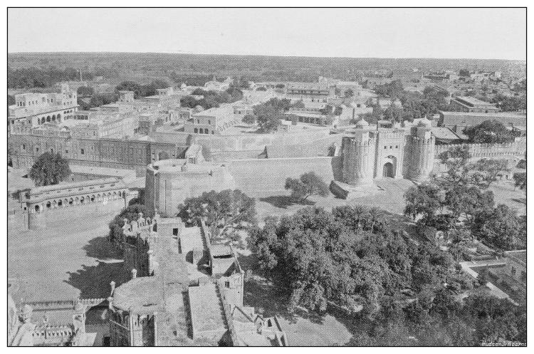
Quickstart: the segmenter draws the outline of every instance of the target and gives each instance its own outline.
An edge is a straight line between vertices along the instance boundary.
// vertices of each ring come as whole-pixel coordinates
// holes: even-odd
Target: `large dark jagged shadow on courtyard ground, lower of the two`
[[[97,261],[96,266],[84,264],[82,269],[67,273],[68,280],[65,282],[80,290],[80,298],[107,298],[110,296],[111,281],[119,286],[128,279],[122,261]]]

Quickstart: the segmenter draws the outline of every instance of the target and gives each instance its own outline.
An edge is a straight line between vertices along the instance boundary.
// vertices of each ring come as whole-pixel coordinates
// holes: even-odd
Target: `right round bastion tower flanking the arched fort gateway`
[[[424,118],[412,127],[409,137],[409,176],[416,182],[427,179],[434,168],[436,138],[431,132],[431,121]]]

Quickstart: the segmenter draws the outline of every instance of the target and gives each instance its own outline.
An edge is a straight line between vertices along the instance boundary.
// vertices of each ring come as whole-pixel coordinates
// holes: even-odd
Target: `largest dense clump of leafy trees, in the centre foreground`
[[[268,217],[248,239],[258,266],[283,290],[288,309],[304,306],[324,312],[329,303],[370,320],[382,301],[470,287],[451,255],[431,244],[408,245],[381,209],[307,207],[281,219]]]

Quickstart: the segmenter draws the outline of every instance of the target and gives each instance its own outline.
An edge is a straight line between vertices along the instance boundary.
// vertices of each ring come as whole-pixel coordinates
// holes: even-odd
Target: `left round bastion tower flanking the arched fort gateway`
[[[357,130],[342,137],[342,181],[351,185],[372,184],[375,175],[377,135],[369,123],[360,120]]]

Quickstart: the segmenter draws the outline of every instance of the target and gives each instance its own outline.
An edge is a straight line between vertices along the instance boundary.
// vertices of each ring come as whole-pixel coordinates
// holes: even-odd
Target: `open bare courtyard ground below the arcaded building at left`
[[[123,278],[122,259],[106,238],[120,207],[65,209],[46,229],[23,231],[19,215],[8,219],[8,278],[25,301],[109,296],[110,281]]]

